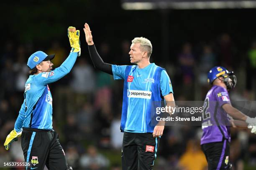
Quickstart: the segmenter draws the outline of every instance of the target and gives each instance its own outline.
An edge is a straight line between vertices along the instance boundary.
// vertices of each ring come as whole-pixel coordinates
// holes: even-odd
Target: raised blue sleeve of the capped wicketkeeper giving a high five
[[[52,82],[56,82],[61,79],[65,75],[67,75],[74,63],[77,60],[77,52],[70,52],[67,59],[59,66],[58,68],[52,70],[51,72],[41,72],[40,74],[35,76],[35,82],[37,85],[47,85]]]

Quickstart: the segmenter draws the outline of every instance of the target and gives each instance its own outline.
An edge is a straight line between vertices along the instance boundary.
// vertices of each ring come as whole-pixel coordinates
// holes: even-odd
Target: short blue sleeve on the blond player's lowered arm
[[[162,96],[173,93],[172,82],[169,78],[169,75],[167,74],[167,72],[165,70],[162,70],[162,72],[161,72],[160,88],[161,88]]]

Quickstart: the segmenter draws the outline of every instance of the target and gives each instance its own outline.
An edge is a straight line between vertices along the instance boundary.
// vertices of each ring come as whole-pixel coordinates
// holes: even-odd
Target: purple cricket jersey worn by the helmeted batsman
[[[227,139],[230,142],[230,122],[228,114],[222,106],[230,104],[228,90],[213,85],[207,92],[202,113],[201,145],[205,143],[221,142]]]

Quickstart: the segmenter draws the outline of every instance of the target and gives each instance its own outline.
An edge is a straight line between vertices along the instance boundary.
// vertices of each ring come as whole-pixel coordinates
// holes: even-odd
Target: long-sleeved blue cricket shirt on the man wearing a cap
[[[29,76],[25,85],[25,99],[14,126],[16,132],[20,132],[23,127],[52,129],[52,97],[48,84],[67,75],[76,60],[77,52],[70,52],[60,67]]]

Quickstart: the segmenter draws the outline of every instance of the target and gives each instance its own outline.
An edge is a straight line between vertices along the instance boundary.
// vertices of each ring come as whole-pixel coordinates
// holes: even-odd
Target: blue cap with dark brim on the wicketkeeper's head
[[[33,69],[42,61],[52,60],[54,56],[55,54],[47,55],[45,52],[37,51],[28,58],[27,65],[30,69]]]

